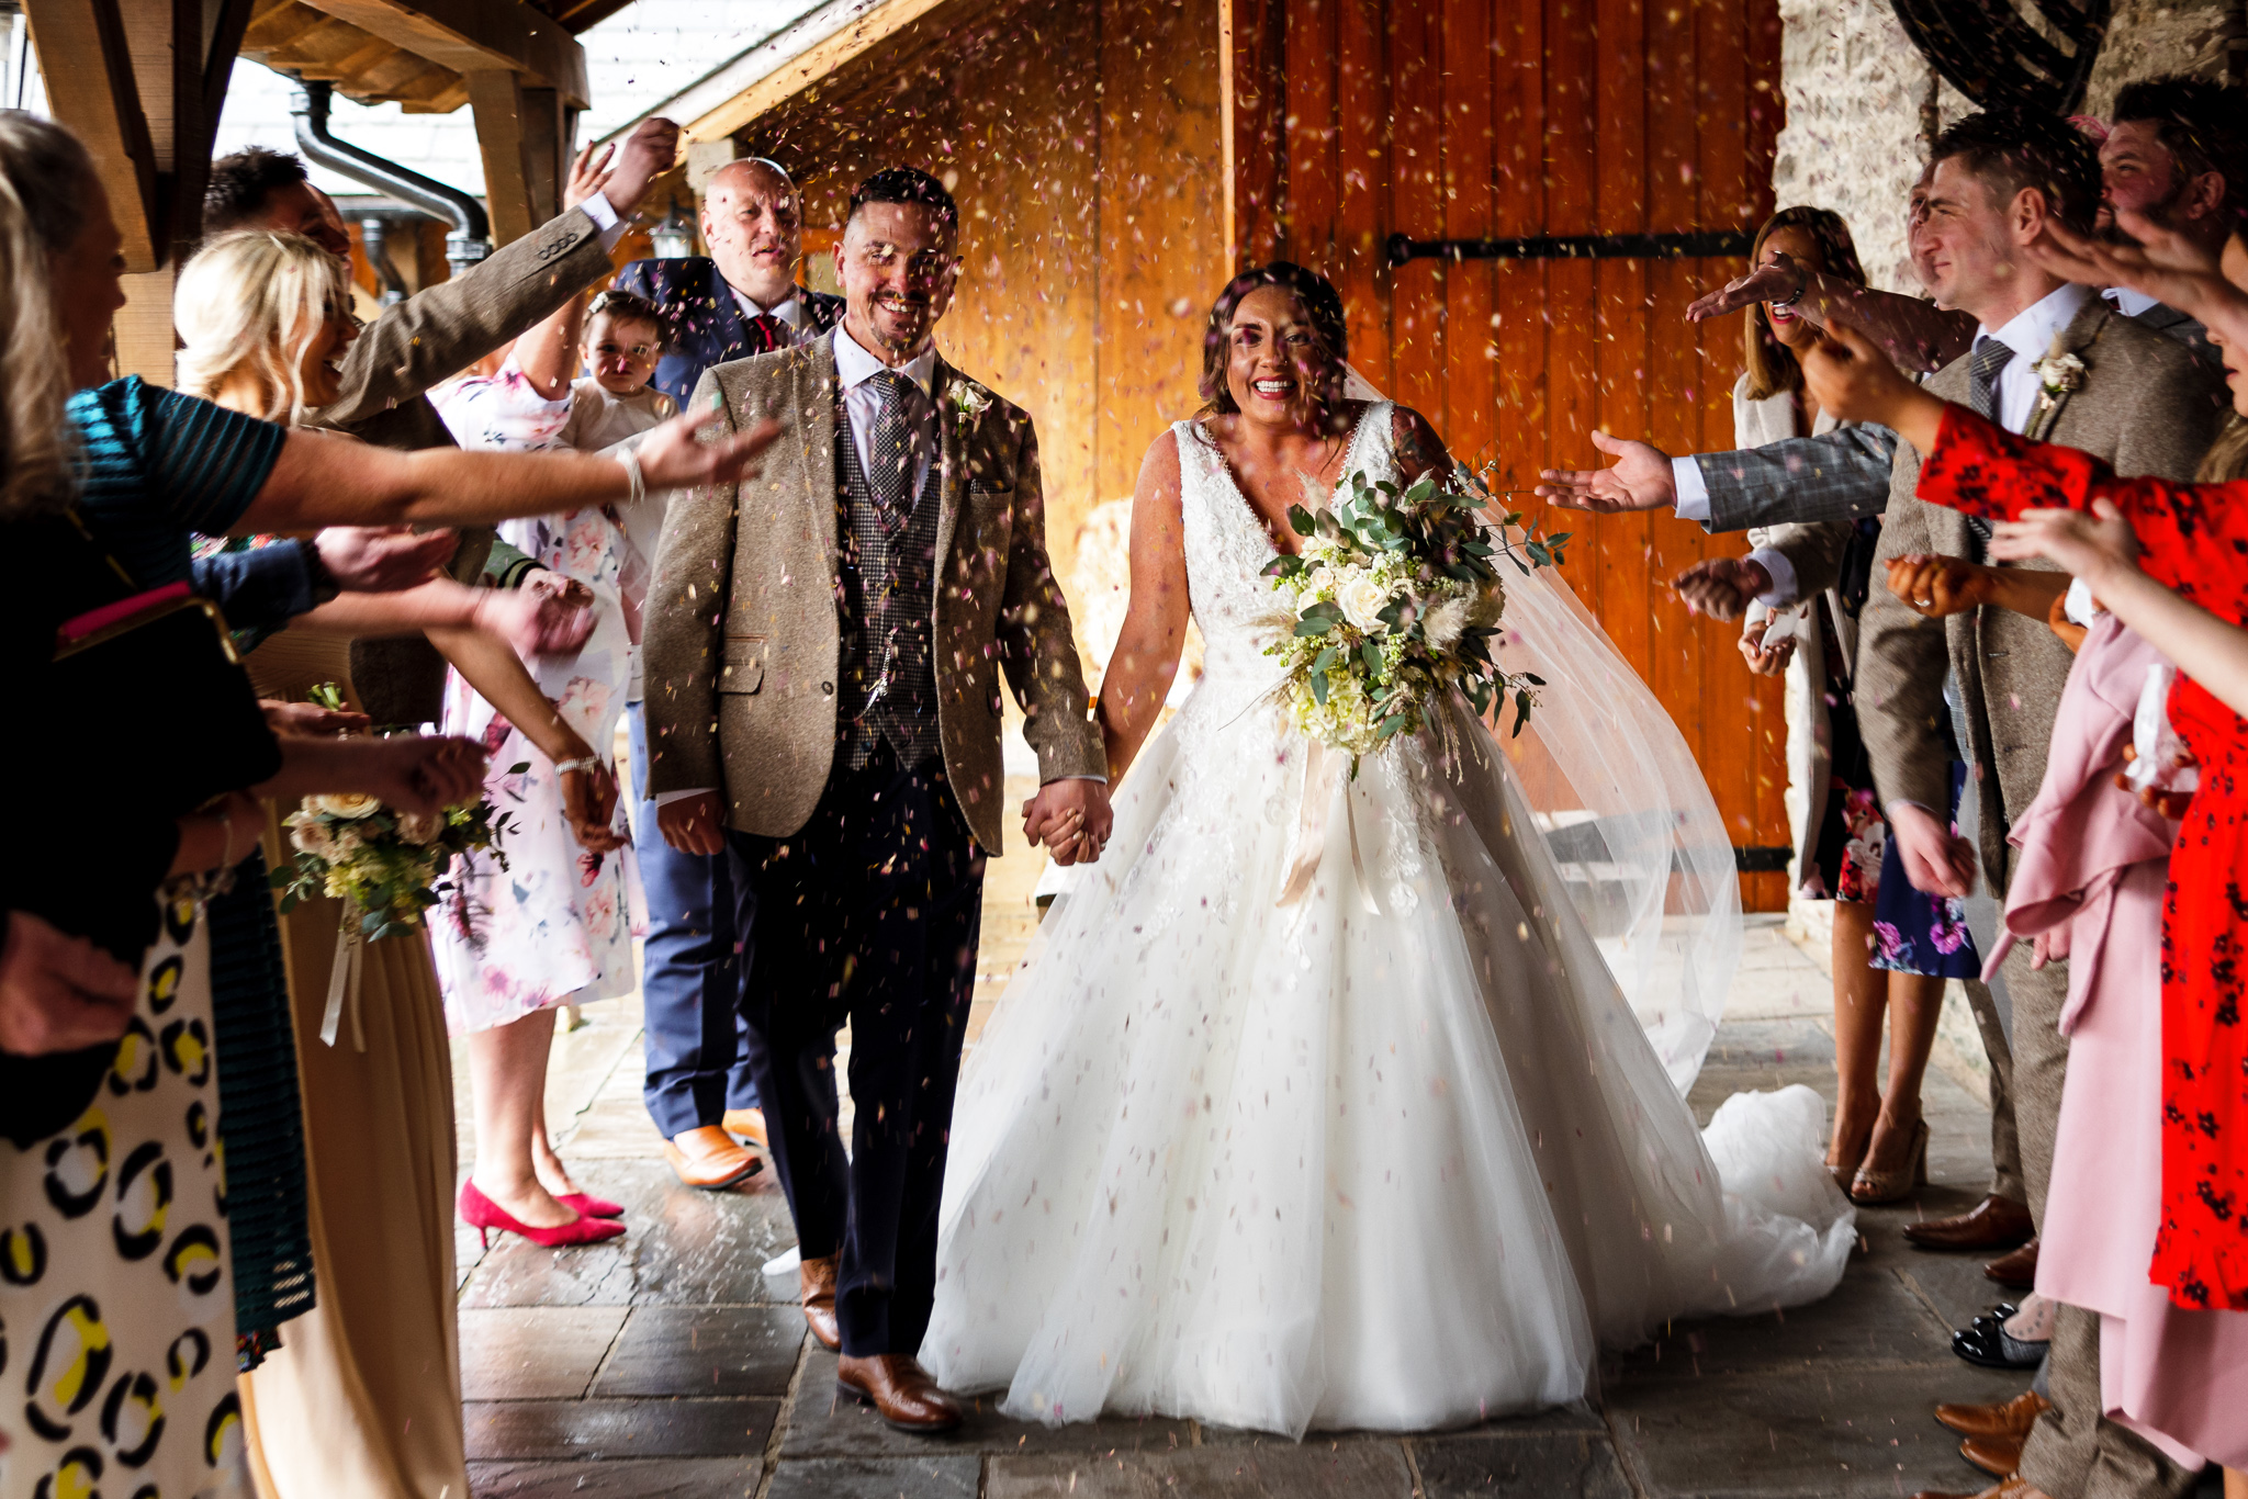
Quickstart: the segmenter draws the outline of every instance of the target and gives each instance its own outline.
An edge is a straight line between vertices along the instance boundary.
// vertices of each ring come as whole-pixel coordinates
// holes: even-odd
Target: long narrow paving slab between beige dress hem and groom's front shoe
[[[474,1461],[762,1456],[780,1400],[470,1400]]]

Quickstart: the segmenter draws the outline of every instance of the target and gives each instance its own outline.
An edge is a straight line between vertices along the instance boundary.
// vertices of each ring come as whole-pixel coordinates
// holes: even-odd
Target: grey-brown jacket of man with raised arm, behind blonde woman
[[[452,434],[429,405],[429,387],[544,321],[607,274],[600,227],[584,209],[569,209],[369,324],[344,355],[342,393],[312,411],[310,425],[378,447],[452,447]],[[474,582],[490,551],[490,526],[463,528],[452,575]],[[441,710],[445,661],[420,636],[353,641],[351,679],[378,724],[427,724]]]

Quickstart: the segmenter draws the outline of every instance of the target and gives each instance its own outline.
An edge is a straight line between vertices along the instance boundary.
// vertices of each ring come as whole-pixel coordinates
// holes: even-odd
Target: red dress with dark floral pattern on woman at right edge
[[[2248,623],[2248,481],[2118,479],[2073,447],[1947,407],[1920,499],[1983,519],[2113,501],[2149,578]],[[2169,721],[2201,762],[2163,901],[2163,1225],[2151,1279],[2185,1308],[2248,1310],[2248,721],[2178,676]]]

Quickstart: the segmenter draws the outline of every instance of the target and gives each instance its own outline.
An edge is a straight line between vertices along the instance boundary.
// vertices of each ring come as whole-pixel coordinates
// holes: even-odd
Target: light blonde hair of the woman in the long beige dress
[[[220,234],[180,267],[173,290],[180,389],[211,400],[250,371],[259,382],[250,416],[301,425],[303,351],[333,308],[351,306],[348,297],[344,263],[301,234]]]

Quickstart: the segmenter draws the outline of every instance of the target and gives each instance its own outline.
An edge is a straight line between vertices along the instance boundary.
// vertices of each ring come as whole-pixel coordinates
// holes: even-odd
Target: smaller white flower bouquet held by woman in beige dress
[[[319,690],[312,701],[339,706]],[[526,769],[515,766],[517,773]],[[297,858],[272,872],[281,912],[315,894],[348,901],[369,942],[418,928],[423,912],[452,888],[445,872],[454,856],[492,850],[499,867],[508,867],[499,841],[510,816],[495,816],[486,800],[420,814],[396,811],[373,796],[308,796],[283,825]]]

